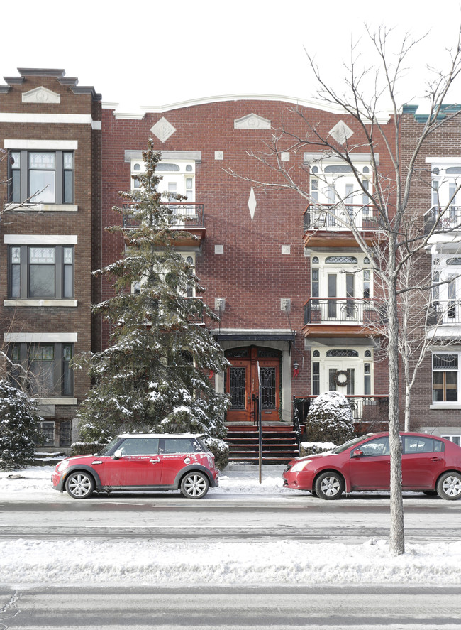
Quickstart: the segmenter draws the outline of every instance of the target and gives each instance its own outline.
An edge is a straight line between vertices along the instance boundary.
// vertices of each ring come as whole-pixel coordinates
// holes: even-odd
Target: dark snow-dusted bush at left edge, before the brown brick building
[[[0,380],[0,469],[33,462],[39,420],[35,403],[9,381]]]

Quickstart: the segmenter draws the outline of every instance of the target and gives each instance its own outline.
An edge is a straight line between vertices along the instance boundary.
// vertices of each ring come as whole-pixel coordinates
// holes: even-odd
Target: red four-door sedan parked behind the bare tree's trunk
[[[402,488],[461,497],[461,447],[427,433],[401,433]],[[389,490],[389,434],[370,433],[321,455],[289,462],[284,487],[309,490],[321,499],[338,499],[343,492]]]

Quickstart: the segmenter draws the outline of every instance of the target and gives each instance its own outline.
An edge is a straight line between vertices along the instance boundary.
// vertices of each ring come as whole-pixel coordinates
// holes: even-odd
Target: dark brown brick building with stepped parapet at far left
[[[73,420],[89,388],[69,362],[91,349],[101,96],[64,70],[18,72],[0,86],[2,341],[29,371],[47,445],[61,450],[78,438]]]

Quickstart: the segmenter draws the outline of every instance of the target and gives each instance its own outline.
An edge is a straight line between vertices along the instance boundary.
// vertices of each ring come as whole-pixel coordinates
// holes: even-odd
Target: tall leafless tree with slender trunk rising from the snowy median
[[[423,229],[422,220],[419,227],[415,224],[415,209],[412,205],[411,193],[418,185],[418,158],[423,150],[442,126],[450,123],[460,113],[459,108],[446,110],[445,101],[455,80],[461,71],[461,33],[458,33],[455,47],[448,51],[450,64],[448,70],[433,73],[433,79],[426,86],[427,118],[421,124],[418,137],[413,139],[413,146],[409,155],[402,157],[401,152],[401,117],[402,111],[398,103],[398,85],[404,75],[404,65],[408,63],[410,53],[413,53],[423,38],[412,40],[406,35],[396,53],[388,50],[391,31],[379,28],[376,33],[367,29],[376,63],[369,67],[361,67],[360,51],[352,45],[350,62],[345,66],[345,92],[338,92],[335,87],[323,79],[315,60],[307,54],[311,70],[316,79],[318,94],[324,103],[334,106],[336,111],[354,121],[355,128],[360,134],[350,134],[347,124],[341,121],[335,129],[325,131],[321,125],[314,125],[309,121],[304,109],[291,110],[304,125],[303,135],[288,124],[280,129],[272,130],[272,138],[266,143],[265,150],[251,153],[272,171],[266,180],[255,180],[228,170],[230,175],[251,181],[255,187],[265,189],[284,188],[295,190],[309,203],[309,212],[317,221],[317,227],[322,222],[333,221],[335,225],[345,227],[352,232],[360,249],[370,260],[370,268],[374,276],[379,278],[382,298],[386,305],[387,320],[387,356],[389,364],[389,443],[391,450],[391,529],[390,547],[394,555],[404,553],[404,509],[401,494],[401,439],[399,435],[399,328],[402,325],[400,310],[400,296],[409,290],[405,281],[405,270],[414,256],[425,251],[431,237],[438,231],[448,214],[448,206],[438,207],[434,220],[429,229]],[[367,62],[372,55],[367,54]],[[390,123],[383,122],[380,112],[384,107],[389,110]],[[389,120],[389,119],[387,119]],[[360,135],[360,141],[355,140]],[[334,202],[319,202],[313,191],[306,186],[309,175],[313,171],[311,161],[301,172],[287,168],[289,163],[282,160],[282,151],[318,151],[320,158],[316,158],[317,177],[322,178],[323,161],[335,158],[348,168],[354,180],[354,190],[348,195],[336,198]],[[366,151],[370,154],[371,175],[368,181],[372,187],[365,184],[362,170],[357,168],[357,153]],[[379,151],[385,153],[387,162],[391,165],[386,172],[379,166]],[[304,172],[303,172],[304,171]],[[306,177],[308,175],[308,177]],[[324,178],[324,182],[338,192],[335,181]],[[335,197],[336,195],[333,195]],[[365,199],[362,207],[351,204],[353,197]],[[365,219],[364,209],[367,218]],[[362,231],[364,220],[373,226],[374,238],[365,239]],[[316,224],[309,217],[311,228]],[[418,229],[417,229],[418,228]],[[412,285],[413,286],[413,285]],[[416,290],[416,288],[415,288]]]

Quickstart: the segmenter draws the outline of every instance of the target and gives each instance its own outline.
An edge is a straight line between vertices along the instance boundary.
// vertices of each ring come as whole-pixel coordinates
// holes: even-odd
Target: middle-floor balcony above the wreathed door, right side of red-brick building
[[[366,337],[387,325],[386,305],[371,298],[311,298],[304,304],[304,337]]]

